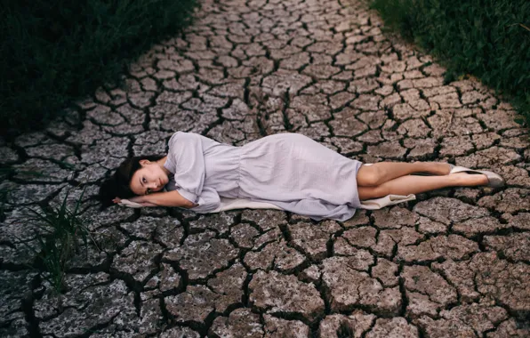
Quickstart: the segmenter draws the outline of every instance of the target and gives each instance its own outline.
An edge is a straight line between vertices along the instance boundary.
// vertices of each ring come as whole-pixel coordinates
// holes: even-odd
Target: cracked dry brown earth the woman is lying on
[[[381,34],[356,1],[202,1],[180,37],[45,131],[2,141],[3,337],[528,337],[530,147],[473,79]],[[98,182],[175,131],[242,145],[303,133],[347,157],[492,168],[503,189],[441,189],[312,222],[278,211],[99,211]],[[32,175],[36,171],[42,175]],[[60,296],[28,269],[25,207],[87,183],[99,249]],[[79,190],[70,192],[72,200]],[[71,202],[73,205],[74,202]]]

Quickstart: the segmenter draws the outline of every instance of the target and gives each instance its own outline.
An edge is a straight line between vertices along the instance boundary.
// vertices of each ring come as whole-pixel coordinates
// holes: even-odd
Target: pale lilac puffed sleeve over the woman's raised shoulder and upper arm
[[[200,205],[199,196],[205,182],[205,156],[200,136],[195,133],[174,133],[169,141],[166,161],[170,161],[169,166],[175,168],[175,189],[182,197]]]

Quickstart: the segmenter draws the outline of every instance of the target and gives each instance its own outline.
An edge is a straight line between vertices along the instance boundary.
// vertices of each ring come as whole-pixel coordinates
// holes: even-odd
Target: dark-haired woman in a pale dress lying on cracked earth
[[[209,213],[220,205],[220,197],[244,198],[315,220],[345,221],[362,207],[363,200],[502,184],[495,173],[444,163],[363,165],[296,133],[270,135],[234,147],[197,133],[177,132],[166,156],[125,160],[102,184],[100,199],[103,205],[129,198],[144,206]]]

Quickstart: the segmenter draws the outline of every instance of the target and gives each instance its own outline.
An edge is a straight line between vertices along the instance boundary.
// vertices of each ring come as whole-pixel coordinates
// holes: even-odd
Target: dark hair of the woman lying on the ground
[[[131,190],[131,180],[132,175],[141,168],[140,161],[147,159],[154,162],[162,157],[165,157],[165,155],[137,156],[124,160],[116,169],[116,173],[101,183],[98,197],[102,208],[113,205],[112,200],[115,197],[130,198],[136,196]]]

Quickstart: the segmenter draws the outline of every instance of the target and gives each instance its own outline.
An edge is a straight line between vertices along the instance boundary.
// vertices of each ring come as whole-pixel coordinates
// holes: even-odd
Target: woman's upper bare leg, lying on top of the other
[[[438,162],[379,162],[373,165],[362,165],[357,172],[357,186],[374,187],[397,177],[411,173],[433,173],[446,175],[450,171],[446,163]]]

